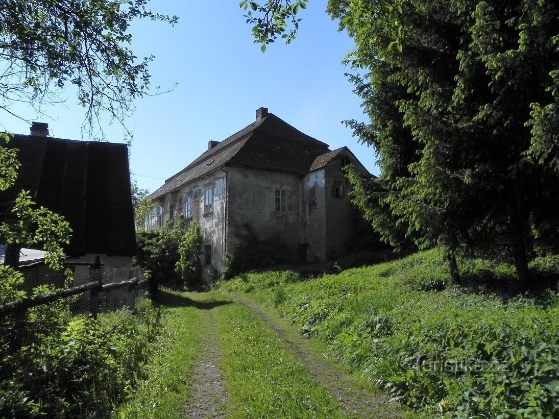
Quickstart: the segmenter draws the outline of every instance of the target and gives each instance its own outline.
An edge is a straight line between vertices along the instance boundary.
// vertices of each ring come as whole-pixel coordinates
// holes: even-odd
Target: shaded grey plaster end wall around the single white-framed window
[[[295,260],[300,242],[300,179],[295,174],[228,168],[227,251],[234,253],[239,233],[249,223],[262,239],[283,241]],[[276,211],[275,189],[286,191],[286,212]]]

